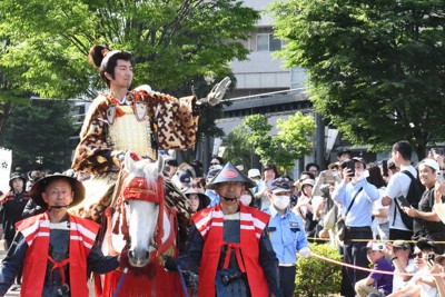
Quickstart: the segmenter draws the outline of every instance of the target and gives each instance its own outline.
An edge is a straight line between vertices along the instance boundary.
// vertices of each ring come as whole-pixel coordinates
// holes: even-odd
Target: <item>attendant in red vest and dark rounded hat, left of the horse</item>
[[[95,244],[99,225],[67,212],[83,199],[82,184],[53,175],[34,184],[31,196],[48,210],[16,224],[17,235],[0,265],[0,296],[23,267],[21,296],[87,297],[87,269],[106,274],[119,261]]]

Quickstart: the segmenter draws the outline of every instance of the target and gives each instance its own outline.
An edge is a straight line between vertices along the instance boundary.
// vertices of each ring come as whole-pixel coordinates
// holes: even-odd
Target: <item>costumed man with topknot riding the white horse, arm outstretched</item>
[[[151,91],[149,86],[130,90],[134,79],[132,55],[93,46],[89,52],[91,63],[99,70],[109,87],[91,103],[80,131],[72,169],[95,175],[103,182],[103,197],[97,209],[109,206],[116,172],[120,169],[125,151],[137,152],[142,158],[158,159],[159,149],[188,149],[195,146],[200,112],[219,103],[230,79],[217,83],[207,98],[196,96],[175,98]],[[166,196],[178,216],[188,220],[189,207],[175,187],[166,181]],[[95,208],[95,206],[91,206]]]

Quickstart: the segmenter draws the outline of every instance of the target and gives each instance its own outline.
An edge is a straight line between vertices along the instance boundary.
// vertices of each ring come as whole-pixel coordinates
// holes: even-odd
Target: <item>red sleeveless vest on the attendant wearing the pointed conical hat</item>
[[[240,242],[239,246],[235,244],[235,248],[239,247],[243,259],[237,257],[238,266],[246,269],[251,296],[268,297],[269,286],[259,265],[259,237],[269,221],[269,215],[243,204],[239,207]],[[199,268],[198,296],[215,296],[215,277],[224,245],[224,215],[219,204],[195,214],[192,220],[205,240]]]

